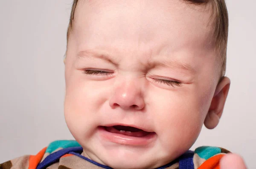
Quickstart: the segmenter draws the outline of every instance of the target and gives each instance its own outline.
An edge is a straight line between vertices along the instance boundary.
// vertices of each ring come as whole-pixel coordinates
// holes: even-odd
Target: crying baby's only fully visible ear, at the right
[[[228,77],[223,77],[216,87],[209,112],[204,120],[204,126],[208,129],[214,129],[218,125],[229,89],[230,79]]]

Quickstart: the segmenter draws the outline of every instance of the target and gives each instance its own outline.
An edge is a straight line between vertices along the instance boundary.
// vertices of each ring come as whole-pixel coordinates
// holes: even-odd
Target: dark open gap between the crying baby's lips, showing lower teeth
[[[138,129],[131,126],[104,126],[105,130],[111,133],[117,133],[121,135],[127,135],[132,137],[145,137],[151,132],[145,132],[142,129]]]

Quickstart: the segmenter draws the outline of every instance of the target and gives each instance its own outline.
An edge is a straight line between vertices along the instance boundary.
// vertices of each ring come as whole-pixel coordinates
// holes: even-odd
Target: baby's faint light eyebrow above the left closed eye
[[[95,52],[93,50],[88,50],[87,49],[87,50],[82,50],[82,51],[78,52],[78,54],[76,54],[76,57],[77,57],[77,59],[82,59],[82,58],[87,58],[88,59],[88,58],[94,57],[94,58],[99,58],[99,59],[102,59],[102,60],[106,60],[110,63],[113,63],[113,64],[117,65],[117,63],[115,63],[113,61],[113,59],[111,59],[112,57],[109,54],[105,53],[105,52]]]

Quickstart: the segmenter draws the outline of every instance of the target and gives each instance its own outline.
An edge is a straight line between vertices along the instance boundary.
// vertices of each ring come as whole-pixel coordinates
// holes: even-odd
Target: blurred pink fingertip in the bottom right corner
[[[227,154],[221,158],[221,169],[246,169],[244,160],[236,154]]]

